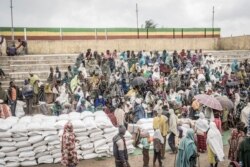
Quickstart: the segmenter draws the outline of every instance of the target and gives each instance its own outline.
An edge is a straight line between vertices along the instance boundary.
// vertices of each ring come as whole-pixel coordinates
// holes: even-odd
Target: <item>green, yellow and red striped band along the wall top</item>
[[[0,27],[0,34],[11,37],[10,27]],[[135,39],[136,28],[15,28],[16,38],[28,40]],[[220,37],[220,28],[139,28],[139,38],[209,38]]]

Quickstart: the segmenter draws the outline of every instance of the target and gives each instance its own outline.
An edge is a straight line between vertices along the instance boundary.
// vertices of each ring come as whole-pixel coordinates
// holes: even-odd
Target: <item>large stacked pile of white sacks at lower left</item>
[[[33,166],[61,161],[61,136],[71,121],[76,134],[80,160],[110,157],[112,138],[118,133],[103,111],[72,112],[60,116],[25,116],[0,119],[0,167]],[[132,135],[126,132],[129,153],[133,153]]]

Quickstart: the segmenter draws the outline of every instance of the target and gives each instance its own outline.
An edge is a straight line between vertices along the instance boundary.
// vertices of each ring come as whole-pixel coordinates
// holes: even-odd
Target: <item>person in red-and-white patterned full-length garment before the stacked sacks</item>
[[[76,152],[76,136],[73,131],[73,125],[70,122],[64,125],[61,142],[61,153],[61,163],[63,166],[76,167],[79,162]]]

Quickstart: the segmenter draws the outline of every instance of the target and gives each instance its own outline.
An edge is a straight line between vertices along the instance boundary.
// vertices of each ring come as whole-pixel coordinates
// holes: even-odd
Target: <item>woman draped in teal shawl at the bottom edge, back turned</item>
[[[195,167],[197,148],[195,145],[194,131],[189,129],[187,135],[180,142],[176,160],[178,167]]]

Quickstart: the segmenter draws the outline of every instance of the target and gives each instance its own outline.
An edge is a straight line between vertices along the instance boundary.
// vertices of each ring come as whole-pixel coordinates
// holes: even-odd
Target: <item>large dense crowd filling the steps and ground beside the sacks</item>
[[[53,103],[53,115],[104,110],[117,127],[127,128],[142,118],[153,118],[153,140],[148,132],[139,135],[145,167],[149,164],[150,142],[154,146],[154,165],[158,160],[162,166],[168,142],[172,154],[177,154],[177,166],[194,167],[199,153],[206,152],[210,166],[217,167],[225,158],[222,133],[236,128],[229,140],[228,158],[232,165],[248,167],[249,74],[247,59],[224,65],[202,50],[118,54],[116,50],[98,53],[88,49],[63,74],[58,67],[55,70],[51,67],[46,83],[30,73],[20,92],[14,81],[10,82],[7,93],[0,86],[0,99],[10,105],[12,115],[17,99],[23,99],[27,104],[26,114],[32,114],[32,105],[46,101]],[[224,98],[227,104],[221,104],[222,110],[212,108],[196,98],[200,94]],[[123,131],[121,128],[120,133]],[[116,166],[129,166],[128,157],[119,151],[119,147],[126,149],[122,135],[114,139],[116,142]],[[119,159],[120,153],[123,159]]]

